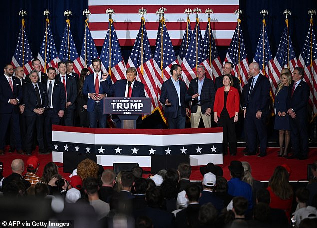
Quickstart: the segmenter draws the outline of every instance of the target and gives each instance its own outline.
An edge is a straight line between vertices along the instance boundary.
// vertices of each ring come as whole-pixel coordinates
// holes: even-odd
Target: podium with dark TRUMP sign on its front
[[[151,98],[106,97],[103,99],[103,114],[115,114],[122,121],[122,129],[136,129],[140,115],[151,114]]]

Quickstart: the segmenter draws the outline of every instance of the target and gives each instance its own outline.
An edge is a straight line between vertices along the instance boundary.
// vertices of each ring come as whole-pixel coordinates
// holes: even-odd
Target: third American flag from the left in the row
[[[65,31],[62,37],[58,58],[60,61],[73,61],[73,70],[75,71],[75,73],[79,75],[81,70],[84,68],[83,64],[81,63],[80,56],[78,55],[75,42],[72,38],[69,19],[66,20]]]

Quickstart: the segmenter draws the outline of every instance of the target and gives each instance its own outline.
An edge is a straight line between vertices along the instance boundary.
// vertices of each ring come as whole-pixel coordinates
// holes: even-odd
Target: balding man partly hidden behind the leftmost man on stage
[[[21,66],[17,66],[15,68],[15,77],[20,80],[21,87],[23,88],[23,85],[26,83],[25,80],[23,79],[24,77],[24,69]],[[22,142],[22,148],[24,148],[24,143],[23,143],[23,136],[26,133],[26,128],[25,128],[25,120],[23,121],[23,111],[24,111],[24,105],[23,105],[23,97],[21,97],[20,102],[19,102],[19,119],[20,119],[20,135],[21,135],[21,142]],[[11,119],[12,121],[12,119]],[[13,130],[13,123],[10,123],[11,129],[10,129],[10,148],[9,148],[9,153],[13,153],[16,145],[15,145],[15,134]]]

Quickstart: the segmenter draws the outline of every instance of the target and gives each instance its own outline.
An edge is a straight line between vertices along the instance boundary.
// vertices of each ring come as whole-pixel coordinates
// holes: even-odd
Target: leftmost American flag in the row
[[[14,67],[22,66],[24,68],[24,73],[29,74],[29,72],[32,70],[32,60],[33,54],[25,33],[25,20],[22,19],[22,28],[18,35],[18,40],[11,64]]]

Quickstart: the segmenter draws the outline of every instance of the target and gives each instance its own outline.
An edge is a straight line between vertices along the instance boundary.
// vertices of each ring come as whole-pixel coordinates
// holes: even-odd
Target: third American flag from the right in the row
[[[271,96],[274,99],[275,91],[279,82],[279,77],[278,75],[273,74],[273,65],[275,64],[268,42],[265,19],[263,19],[263,28],[260,33],[253,62],[257,62],[259,64],[260,73],[262,73],[265,77],[268,78],[271,84]]]

